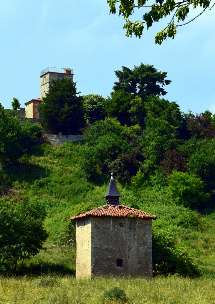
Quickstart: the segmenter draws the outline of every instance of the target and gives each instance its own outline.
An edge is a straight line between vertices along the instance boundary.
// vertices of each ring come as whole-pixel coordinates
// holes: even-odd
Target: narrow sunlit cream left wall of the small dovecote
[[[76,278],[91,275],[91,218],[76,222]]]

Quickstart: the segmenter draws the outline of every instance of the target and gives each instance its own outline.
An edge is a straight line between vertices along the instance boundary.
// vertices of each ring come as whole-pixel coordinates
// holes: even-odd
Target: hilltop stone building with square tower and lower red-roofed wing
[[[73,80],[73,71],[69,68],[47,67],[40,72],[40,98],[32,99],[25,103],[27,118],[41,118],[37,109],[38,105],[42,103],[43,97],[49,91],[49,86],[52,79],[71,78]]]

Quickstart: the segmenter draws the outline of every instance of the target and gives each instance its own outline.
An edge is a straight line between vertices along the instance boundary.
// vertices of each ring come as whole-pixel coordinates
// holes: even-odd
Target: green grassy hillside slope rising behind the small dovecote
[[[50,246],[66,241],[71,216],[105,204],[110,178],[105,176],[100,184],[86,180],[78,164],[84,145],[67,142],[59,147],[34,146],[19,162],[1,171],[2,187],[18,190],[13,194],[15,199],[26,196],[47,206],[45,227],[49,238],[45,246],[48,249],[25,261],[26,273],[75,273],[74,247]],[[176,249],[186,249],[203,275],[215,275],[215,213],[211,210],[199,213],[177,206],[165,191],[150,187],[140,197],[134,197],[127,184],[118,183],[117,187],[122,195],[121,204],[157,215],[158,219],[152,223],[154,232],[174,237]]]

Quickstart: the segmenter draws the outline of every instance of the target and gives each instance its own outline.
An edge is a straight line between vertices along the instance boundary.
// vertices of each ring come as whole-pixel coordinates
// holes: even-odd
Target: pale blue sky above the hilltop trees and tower
[[[166,98],[182,111],[215,113],[215,8],[161,46],[154,36],[168,19],[144,30],[141,39],[127,38],[122,16],[109,15],[106,0],[8,0],[0,8],[0,102],[5,108],[14,96],[22,107],[40,97],[39,76],[46,67],[69,67],[82,94],[106,97],[116,81],[114,70],[143,62],[168,72],[172,83]],[[141,19],[143,12],[130,19]]]

